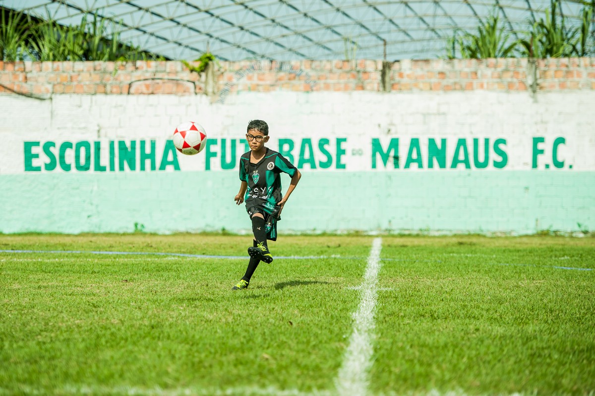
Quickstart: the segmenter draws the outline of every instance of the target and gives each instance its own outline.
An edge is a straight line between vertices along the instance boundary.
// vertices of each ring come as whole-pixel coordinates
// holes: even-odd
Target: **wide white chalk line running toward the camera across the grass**
[[[368,265],[361,285],[361,301],[358,310],[353,314],[353,333],[345,352],[343,365],[335,379],[339,395],[364,396],[368,389],[368,373],[372,366],[374,348],[374,308],[378,289],[378,272],[380,271],[380,250],[382,238],[375,238],[368,256]]]

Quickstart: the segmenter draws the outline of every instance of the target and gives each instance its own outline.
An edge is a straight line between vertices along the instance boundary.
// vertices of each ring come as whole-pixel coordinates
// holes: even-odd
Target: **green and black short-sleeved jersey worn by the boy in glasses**
[[[277,203],[283,198],[281,194],[281,172],[296,174],[297,169],[280,153],[267,148],[267,152],[258,164],[250,163],[251,151],[240,157],[240,180],[248,183],[244,197],[246,207],[256,206],[264,212],[277,217]]]

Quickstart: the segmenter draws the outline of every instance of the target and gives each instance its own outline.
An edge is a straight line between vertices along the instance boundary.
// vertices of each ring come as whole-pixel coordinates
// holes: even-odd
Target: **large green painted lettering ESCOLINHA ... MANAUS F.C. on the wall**
[[[533,137],[531,168],[569,168],[560,150],[564,137],[547,140]],[[367,169],[503,169],[508,165],[509,142],[502,138],[453,138],[421,140],[417,137],[390,140],[373,137],[370,146],[358,144],[347,151],[347,138],[279,139],[278,152],[298,169],[346,169],[350,164]],[[24,142],[26,172],[70,171],[180,171],[176,147],[171,140],[109,140],[104,142]],[[353,142],[352,142],[353,143]],[[514,144],[518,144],[515,142]],[[274,145],[274,144],[273,144]],[[250,149],[245,139],[208,139],[204,169],[236,169],[237,159]],[[364,158],[369,155],[369,159]],[[201,158],[197,156],[197,158]],[[550,158],[551,161],[547,161]],[[202,158],[201,158],[202,159]],[[350,162],[353,161],[353,162]],[[202,162],[201,162],[202,164]],[[198,164],[197,164],[198,165]],[[200,165],[202,166],[202,165]],[[184,169],[187,170],[187,169]],[[194,169],[198,170],[198,169]]]

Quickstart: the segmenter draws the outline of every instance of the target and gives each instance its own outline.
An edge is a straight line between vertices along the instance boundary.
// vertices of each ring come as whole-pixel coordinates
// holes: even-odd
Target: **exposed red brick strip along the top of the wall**
[[[525,91],[528,59],[404,60],[390,66],[392,92]],[[219,96],[240,91],[382,90],[382,61],[221,62]],[[595,90],[595,58],[537,60],[538,91]],[[0,93],[32,96],[194,95],[205,74],[181,62],[0,62]]]

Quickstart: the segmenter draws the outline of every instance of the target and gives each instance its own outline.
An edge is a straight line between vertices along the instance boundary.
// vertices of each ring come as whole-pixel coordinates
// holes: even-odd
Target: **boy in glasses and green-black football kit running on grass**
[[[265,147],[268,142],[268,125],[261,120],[253,120],[246,128],[246,139],[250,151],[240,157],[240,191],[236,195],[236,205],[246,200],[246,211],[252,219],[254,234],[253,246],[248,248],[250,262],[246,274],[232,288],[248,288],[250,278],[261,261],[270,263],[273,255],[268,250],[267,240],[277,240],[277,221],[281,211],[302,174],[280,153]],[[281,172],[292,177],[285,196],[281,195]]]

